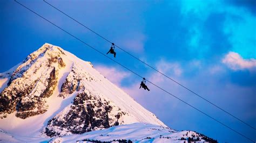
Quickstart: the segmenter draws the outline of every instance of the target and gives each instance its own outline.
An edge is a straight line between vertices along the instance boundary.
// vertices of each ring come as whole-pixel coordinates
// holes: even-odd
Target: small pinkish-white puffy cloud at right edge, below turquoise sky
[[[229,52],[222,62],[233,70],[252,69],[256,67],[256,59],[243,59],[235,52]]]

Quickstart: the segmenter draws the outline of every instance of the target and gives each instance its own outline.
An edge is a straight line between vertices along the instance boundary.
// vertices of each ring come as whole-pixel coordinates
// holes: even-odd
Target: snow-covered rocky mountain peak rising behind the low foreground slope
[[[0,140],[10,136],[17,142],[51,137],[72,137],[75,141],[74,134],[82,135],[82,139],[91,131],[105,129],[102,131],[110,133],[110,127],[122,128],[119,125],[130,126],[129,131],[137,124],[136,131],[142,131],[145,125],[177,133],[107,80],[90,62],[51,44],[44,44],[0,74],[0,92]]]

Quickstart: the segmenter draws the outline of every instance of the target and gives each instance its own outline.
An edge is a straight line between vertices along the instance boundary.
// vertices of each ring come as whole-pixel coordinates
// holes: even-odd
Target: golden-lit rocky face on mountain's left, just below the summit
[[[52,95],[57,85],[58,70],[65,67],[62,51],[44,45],[31,53],[11,74],[0,94],[0,118],[17,111],[18,118],[28,118],[47,111],[45,98]]]

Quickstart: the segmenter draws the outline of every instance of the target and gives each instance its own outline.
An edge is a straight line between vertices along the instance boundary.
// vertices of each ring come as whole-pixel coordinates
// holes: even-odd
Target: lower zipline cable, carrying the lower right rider
[[[26,7],[26,6],[25,6],[25,5],[23,5],[22,3],[19,3],[17,0],[14,0],[14,1],[15,1],[16,3],[18,3],[18,4],[22,5],[24,8],[28,9],[28,10],[29,10],[29,11],[31,11],[32,13],[35,13],[37,16],[39,16],[39,17],[43,18],[43,19],[44,19],[44,20],[46,20],[47,22],[51,23],[52,25],[56,26],[56,27],[57,27],[57,28],[59,28],[60,30],[64,31],[65,33],[67,33],[67,34],[71,35],[73,38],[75,38],[75,39],[79,40],[80,42],[82,42],[82,43],[83,43],[83,44],[85,44],[86,46],[88,46],[88,47],[90,47],[90,48],[94,49],[96,52],[98,52],[98,53],[102,54],[102,55],[103,55],[103,56],[105,56],[107,59],[109,59],[109,60],[111,60],[111,61],[113,61],[113,62],[117,63],[119,66],[122,66],[123,68],[125,68],[125,69],[127,69],[127,70],[131,71],[133,74],[135,74],[135,75],[137,75],[137,76],[139,76],[139,77],[143,78],[143,77],[142,77],[142,76],[140,76],[139,74],[135,73],[133,70],[131,70],[131,69],[129,69],[129,68],[127,68],[127,67],[123,66],[121,63],[119,63],[119,62],[117,62],[117,61],[113,60],[112,58],[109,58],[109,56],[106,56],[104,53],[102,53],[102,52],[98,51],[98,49],[96,49],[96,48],[94,48],[94,47],[90,46],[89,44],[87,44],[87,43],[86,43],[86,42],[84,42],[83,40],[81,40],[81,39],[77,38],[75,35],[73,35],[73,34],[69,33],[68,31],[65,31],[63,28],[61,28],[61,27],[59,27],[58,25],[56,25],[56,24],[52,23],[50,20],[48,20],[48,19],[44,18],[43,16],[39,15],[39,14],[38,14],[38,13],[36,13],[35,11],[33,11],[33,10],[29,9],[28,7]],[[147,81],[148,81],[148,80],[147,80]],[[150,81],[148,81],[148,82],[150,82]],[[222,123],[221,121],[219,121],[219,120],[217,120],[217,119],[215,119],[215,118],[211,117],[210,115],[207,115],[205,112],[203,112],[203,111],[201,111],[201,110],[199,110],[199,109],[195,108],[194,106],[192,106],[192,105],[188,104],[187,102],[183,101],[182,99],[178,98],[177,96],[175,96],[175,95],[171,94],[169,91],[166,91],[165,89],[163,89],[163,88],[159,87],[158,85],[156,85],[156,84],[154,84],[154,83],[152,83],[152,82],[150,82],[150,83],[151,83],[151,84],[153,84],[153,85],[155,85],[157,88],[159,88],[159,89],[161,89],[161,90],[165,91],[167,94],[169,94],[169,95],[171,95],[171,96],[173,96],[173,97],[175,97],[175,98],[179,99],[179,101],[181,101],[181,102],[183,102],[183,103],[187,104],[188,106],[191,106],[193,109],[195,109],[195,110],[197,110],[197,111],[199,111],[199,112],[203,113],[205,116],[207,116],[207,117],[209,117],[209,118],[211,118],[211,119],[213,119],[213,120],[217,121],[217,122],[218,122],[218,123],[220,123],[221,125],[223,125],[223,126],[225,126],[225,127],[229,128],[229,129],[230,129],[230,130],[232,130],[233,132],[235,132],[235,133],[237,133],[237,134],[241,135],[242,137],[244,137],[244,138],[246,138],[246,139],[248,139],[248,140],[250,140],[250,141],[252,141],[252,142],[255,142],[254,140],[252,140],[252,139],[250,139],[250,138],[246,137],[244,134],[242,134],[242,133],[240,133],[240,132],[238,132],[238,131],[234,130],[233,128],[231,128],[231,127],[227,126],[226,124]]]

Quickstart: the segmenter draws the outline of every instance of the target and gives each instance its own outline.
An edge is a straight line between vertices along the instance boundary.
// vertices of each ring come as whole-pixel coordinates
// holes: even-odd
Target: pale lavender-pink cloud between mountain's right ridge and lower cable
[[[121,82],[124,80],[124,78],[129,77],[130,73],[127,73],[125,71],[120,71],[117,68],[114,67],[106,67],[103,65],[95,66],[95,68],[104,75],[108,80],[110,80],[112,83],[118,85],[121,87]]]

